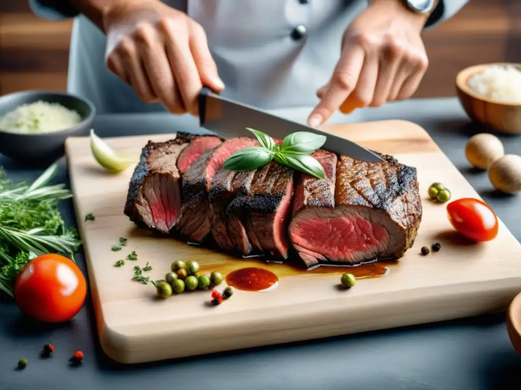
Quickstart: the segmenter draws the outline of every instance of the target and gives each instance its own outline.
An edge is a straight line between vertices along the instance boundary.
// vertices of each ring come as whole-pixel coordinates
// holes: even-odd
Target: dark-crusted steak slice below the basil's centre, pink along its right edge
[[[272,161],[255,171],[250,188],[244,192],[228,207],[229,226],[234,223],[234,219],[241,220],[243,228],[239,231],[245,231],[250,245],[272,257],[286,259],[290,248],[288,224],[293,196],[293,170]],[[230,232],[232,230],[233,225],[229,228]],[[248,246],[244,236],[235,237],[234,241],[236,245],[242,243],[242,249]],[[243,253],[247,254],[245,251]]]

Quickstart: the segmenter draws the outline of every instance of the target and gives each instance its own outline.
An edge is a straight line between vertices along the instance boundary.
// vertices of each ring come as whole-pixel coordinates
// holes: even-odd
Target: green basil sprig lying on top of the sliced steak
[[[253,146],[238,150],[225,161],[223,168],[230,171],[252,171],[275,160],[297,171],[307,173],[319,179],[325,178],[324,168],[311,156],[319,149],[326,136],[308,132],[296,132],[288,135],[278,146],[269,135],[253,128],[251,131],[261,146]]]

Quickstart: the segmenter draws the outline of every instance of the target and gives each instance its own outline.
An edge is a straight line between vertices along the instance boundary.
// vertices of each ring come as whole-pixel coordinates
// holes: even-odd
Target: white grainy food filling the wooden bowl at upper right
[[[468,86],[475,93],[506,103],[521,103],[521,71],[513,65],[494,65],[470,77]]]

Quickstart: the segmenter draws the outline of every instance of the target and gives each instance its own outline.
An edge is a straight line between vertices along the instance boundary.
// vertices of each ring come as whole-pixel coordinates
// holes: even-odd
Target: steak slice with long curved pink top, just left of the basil
[[[206,152],[188,169],[182,179],[183,202],[176,226],[190,241],[202,242],[210,231],[208,191],[215,174],[230,154],[255,144],[249,137],[231,138]]]

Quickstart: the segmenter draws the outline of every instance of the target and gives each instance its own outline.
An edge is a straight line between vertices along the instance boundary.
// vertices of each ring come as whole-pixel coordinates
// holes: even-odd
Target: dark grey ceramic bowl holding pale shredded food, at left
[[[21,162],[48,164],[63,156],[67,137],[89,133],[96,115],[93,103],[64,92],[28,90],[4,95],[0,97],[0,117],[18,106],[39,100],[59,103],[77,111],[81,116],[81,122],[74,127],[53,133],[17,134],[0,131],[0,153]]]

